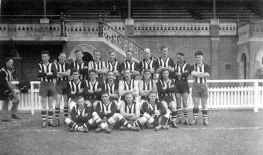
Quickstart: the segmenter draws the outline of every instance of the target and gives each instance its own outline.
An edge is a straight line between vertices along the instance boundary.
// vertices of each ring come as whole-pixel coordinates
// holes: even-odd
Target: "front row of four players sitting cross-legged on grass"
[[[108,134],[114,125],[120,125],[120,129],[134,131],[139,131],[142,127],[154,128],[155,131],[169,129],[166,122],[170,111],[156,100],[156,91],[150,91],[149,102],[143,103],[143,116],[140,116],[139,103],[134,100],[131,93],[125,94],[120,113],[116,113],[116,104],[109,98],[109,93],[102,91],[101,101],[98,102],[96,111],[91,112],[91,107],[85,104],[84,98],[78,96],[77,103],[71,102],[71,119],[65,119],[66,125],[71,127],[71,131],[87,132],[92,127],[96,127],[96,132],[104,130]]]

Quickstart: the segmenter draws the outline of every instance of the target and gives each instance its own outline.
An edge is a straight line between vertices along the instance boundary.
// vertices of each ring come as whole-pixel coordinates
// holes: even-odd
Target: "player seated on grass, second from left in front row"
[[[115,102],[109,101],[109,93],[107,91],[102,91],[101,101],[98,102],[96,111],[92,113],[93,120],[97,124],[96,132],[102,131],[104,129],[108,134],[116,122],[119,122],[125,127],[138,131],[138,128],[131,126],[120,113],[116,113]]]

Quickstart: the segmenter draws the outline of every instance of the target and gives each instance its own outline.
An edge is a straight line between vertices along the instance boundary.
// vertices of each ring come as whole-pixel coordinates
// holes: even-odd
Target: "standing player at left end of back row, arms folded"
[[[46,104],[48,103],[48,126],[56,127],[53,123],[53,102],[56,95],[53,78],[57,78],[57,69],[53,63],[48,62],[50,55],[48,51],[42,51],[42,62],[38,64],[37,76],[41,79],[39,95],[42,100],[42,127],[46,127]]]

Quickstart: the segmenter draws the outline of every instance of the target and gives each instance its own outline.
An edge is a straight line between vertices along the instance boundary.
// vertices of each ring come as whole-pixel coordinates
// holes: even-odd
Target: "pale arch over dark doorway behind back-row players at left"
[[[85,53],[87,53],[91,57],[93,57],[93,51],[97,51],[97,49],[94,46],[91,46],[89,44],[80,44],[78,46],[75,46],[71,50],[71,53],[69,54],[69,59],[72,59],[73,61],[76,60],[76,58],[75,58],[75,51],[77,49],[82,49],[84,55],[85,55]]]

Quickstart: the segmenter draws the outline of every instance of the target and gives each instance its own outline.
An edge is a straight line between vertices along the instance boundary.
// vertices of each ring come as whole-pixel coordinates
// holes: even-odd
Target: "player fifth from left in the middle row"
[[[150,91],[157,91],[156,82],[151,78],[151,72],[149,69],[144,69],[143,79],[139,82],[139,94],[140,98],[140,110],[142,110],[143,103],[148,100]]]

